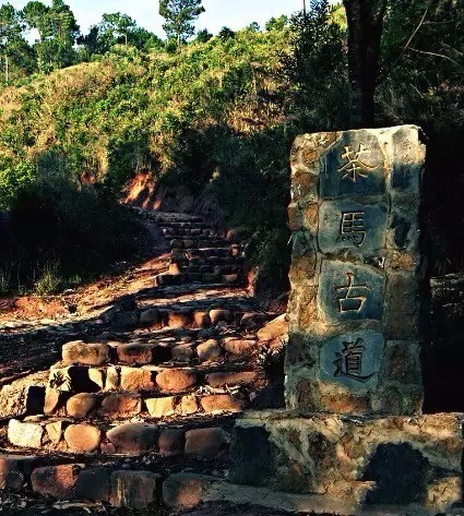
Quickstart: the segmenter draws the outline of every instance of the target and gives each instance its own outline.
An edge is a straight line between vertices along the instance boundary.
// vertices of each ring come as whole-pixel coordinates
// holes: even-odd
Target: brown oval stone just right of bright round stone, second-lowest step
[[[156,446],[158,427],[145,423],[120,424],[109,430],[106,436],[115,445],[118,453],[140,454]]]

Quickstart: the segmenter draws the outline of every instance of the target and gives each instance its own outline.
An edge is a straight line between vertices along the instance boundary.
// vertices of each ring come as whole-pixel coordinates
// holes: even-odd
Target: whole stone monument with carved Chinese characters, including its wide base
[[[237,422],[231,478],[346,514],[448,509],[462,501],[463,417],[421,415],[419,128],[301,135],[290,160],[287,410]]]

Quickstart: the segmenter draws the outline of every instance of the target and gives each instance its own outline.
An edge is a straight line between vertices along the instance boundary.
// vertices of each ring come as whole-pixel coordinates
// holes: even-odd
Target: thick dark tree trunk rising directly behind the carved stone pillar
[[[350,122],[372,127],[380,43],[388,0],[343,0],[348,21]]]

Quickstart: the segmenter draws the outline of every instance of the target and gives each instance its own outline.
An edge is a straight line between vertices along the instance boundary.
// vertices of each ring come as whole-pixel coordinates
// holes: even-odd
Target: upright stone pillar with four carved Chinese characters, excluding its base
[[[289,409],[420,413],[418,133],[402,125],[296,139]]]

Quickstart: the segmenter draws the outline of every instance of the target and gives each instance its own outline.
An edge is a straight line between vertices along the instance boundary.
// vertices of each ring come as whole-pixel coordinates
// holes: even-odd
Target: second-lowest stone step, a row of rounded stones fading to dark
[[[219,420],[224,421],[224,420]],[[215,459],[229,444],[229,433],[207,421],[193,428],[177,423],[158,424],[157,419],[139,422],[110,423],[103,420],[79,421],[72,418],[12,419],[8,425],[8,440],[12,453],[35,449],[38,454],[93,454],[98,456],[152,456],[154,464],[166,455],[194,455]],[[229,423],[228,423],[229,427]],[[227,427],[227,428],[228,428]]]

